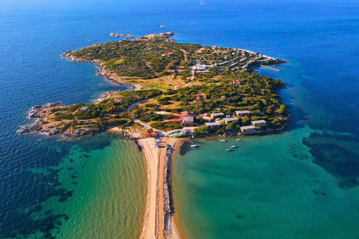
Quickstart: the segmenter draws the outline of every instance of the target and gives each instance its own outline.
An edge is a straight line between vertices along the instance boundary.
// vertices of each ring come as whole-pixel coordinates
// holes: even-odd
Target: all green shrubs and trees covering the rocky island
[[[196,136],[238,132],[240,126],[251,125],[253,120],[266,120],[268,125],[263,129],[278,129],[287,123],[288,109],[275,92],[285,83],[257,75],[251,70],[258,63],[283,61],[234,48],[202,47],[198,44],[167,42],[166,39],[164,35],[145,36],[132,41],[95,44],[72,52],[79,59],[101,62],[105,70],[114,75],[131,77],[128,79],[130,83],[140,83],[145,90],[114,92],[111,97],[95,104],[54,107],[49,112],[49,119],[60,121],[59,125],[65,129],[101,129],[108,125],[119,125],[121,128],[132,126],[134,122],[130,116],[135,116],[140,121],[150,122],[155,129],[168,131],[181,128],[178,121],[165,121],[181,111],[195,114],[223,112],[225,115],[234,115],[236,110],[251,112],[250,116],[218,128],[196,128]],[[168,81],[176,81],[179,86],[182,82],[188,82],[190,65],[194,64],[213,67],[205,72],[195,72],[193,86],[172,89]],[[154,79],[158,76],[162,78]],[[239,80],[240,85],[233,85],[233,80]],[[161,92],[158,89],[168,90]],[[195,100],[196,94],[200,94],[202,99]],[[159,97],[133,107],[130,113],[125,112],[134,102],[155,96]],[[115,103],[115,97],[122,98],[122,102]],[[84,106],[88,109],[80,111]],[[161,110],[168,114],[155,113]],[[195,117],[194,121],[198,125],[205,122],[202,116]]]

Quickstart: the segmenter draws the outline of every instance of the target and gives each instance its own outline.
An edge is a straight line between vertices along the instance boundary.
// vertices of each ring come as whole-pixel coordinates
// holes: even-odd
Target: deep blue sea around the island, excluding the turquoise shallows
[[[359,2],[206,0],[205,4],[200,7],[199,1],[194,0],[1,1],[0,238],[66,235],[64,230],[70,230],[71,225],[79,221],[78,218],[97,215],[82,210],[87,205],[85,202],[72,204],[73,195],[78,200],[76,193],[81,192],[81,188],[71,186],[75,185],[74,182],[59,181],[59,177],[64,177],[69,171],[68,177],[72,181],[78,177],[76,183],[79,184],[89,178],[101,177],[98,174],[76,176],[73,172],[75,166],[67,165],[75,160],[69,162],[69,155],[79,149],[90,159],[106,160],[105,156],[98,158],[98,154],[101,150],[113,152],[112,149],[118,148],[117,143],[111,143],[118,140],[116,136],[105,133],[93,139],[59,142],[58,138],[47,138],[37,133],[16,133],[20,125],[31,122],[27,114],[33,105],[54,101],[87,103],[106,91],[129,89],[96,76],[94,65],[69,62],[60,54],[67,49],[117,40],[108,36],[111,32],[131,33],[139,37],[164,31],[178,33],[176,39],[181,43],[244,48],[289,62],[275,66],[280,72],[258,69],[259,74],[287,82],[288,88],[281,90],[280,94],[291,106],[293,115],[293,123],[283,136],[276,134],[262,138],[271,140],[270,137],[273,137],[275,142],[282,142],[283,145],[286,140],[296,139],[295,143],[289,140],[293,144],[292,153],[295,154],[298,149],[306,150],[310,163],[323,169],[321,172],[327,174],[324,178],[331,176],[342,190],[342,197],[348,199],[346,202],[354,204],[348,221],[340,219],[348,225],[346,230],[351,231],[350,237],[346,237],[346,230],[343,229],[342,238],[359,236],[358,231],[353,233],[355,225],[359,226],[359,203],[353,200],[353,191],[347,191],[355,189],[354,192],[358,192],[359,185]],[[159,25],[167,27],[159,28]],[[298,136],[301,129],[305,133]],[[38,139],[41,141],[36,141]],[[261,144],[263,139],[251,142]],[[134,145],[129,145],[135,150]],[[260,158],[268,156],[267,144],[263,145],[263,150],[256,152]],[[280,157],[285,155],[283,145],[270,145],[271,153],[278,152]],[[126,162],[128,153],[125,149],[120,150],[118,160]],[[191,153],[186,155],[190,157]],[[81,155],[81,160],[87,156]],[[141,157],[140,154],[138,157]],[[123,165],[126,167],[127,164]],[[140,163],[137,166],[140,167]],[[129,172],[142,172],[137,166],[129,165]],[[129,173],[128,177],[131,175]],[[230,178],[229,175],[226,177]],[[141,188],[140,185],[138,187]],[[128,199],[132,200],[132,197],[123,195],[118,200],[125,202]],[[59,207],[54,201],[66,206]],[[68,208],[71,205],[76,208]],[[340,209],[340,206],[337,208]],[[347,205],[342,206],[343,215],[346,208]],[[126,213],[118,217],[123,231],[127,230],[126,220],[137,212]],[[324,223],[327,221],[323,220]],[[86,231],[86,226],[92,227],[84,223],[81,229]],[[342,228],[338,229],[339,234]],[[78,231],[77,228],[71,230]],[[104,238],[103,235],[111,235],[106,231],[101,233],[101,230],[107,230],[106,227],[97,227],[96,230],[102,236],[81,234],[80,237]],[[128,238],[127,235],[117,235]],[[134,238],[137,235],[135,233]],[[300,235],[297,238],[311,238],[307,234]]]

